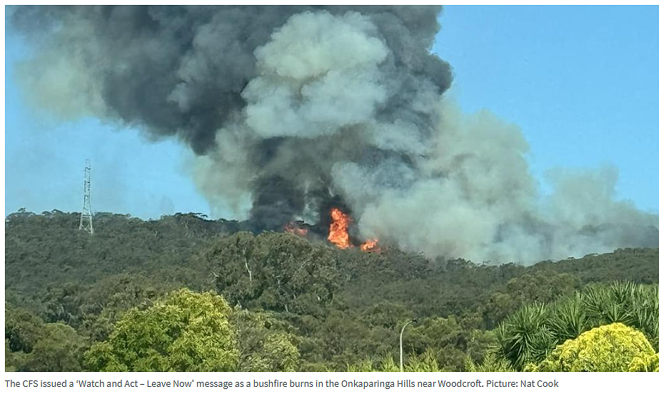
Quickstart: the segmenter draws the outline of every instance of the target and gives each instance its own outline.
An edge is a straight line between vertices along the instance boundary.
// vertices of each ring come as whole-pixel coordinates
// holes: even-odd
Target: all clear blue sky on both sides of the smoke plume
[[[538,180],[553,167],[614,165],[618,198],[658,212],[656,6],[450,6],[440,24],[433,51],[455,70],[447,94],[519,125]],[[49,119],[14,83],[28,49],[8,34],[5,51],[6,214],[79,211],[86,157],[96,212],[209,213],[184,169],[188,148],[96,119]]]

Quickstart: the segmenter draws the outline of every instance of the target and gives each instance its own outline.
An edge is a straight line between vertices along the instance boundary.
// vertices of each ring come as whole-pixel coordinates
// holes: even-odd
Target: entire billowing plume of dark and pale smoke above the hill
[[[523,261],[657,245],[657,216],[615,200],[617,174],[553,172],[528,144],[443,93],[438,7],[19,7],[37,105],[176,135],[211,207],[256,229],[326,226],[428,256]],[[248,202],[250,204],[248,204]],[[249,207],[249,209],[246,209]]]

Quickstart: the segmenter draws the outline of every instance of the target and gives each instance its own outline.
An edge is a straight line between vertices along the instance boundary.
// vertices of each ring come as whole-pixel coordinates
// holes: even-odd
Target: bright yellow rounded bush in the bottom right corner
[[[622,323],[592,328],[565,341],[530,370],[552,372],[619,372],[630,370],[635,358],[655,355],[645,336]],[[634,364],[633,368],[637,368]]]

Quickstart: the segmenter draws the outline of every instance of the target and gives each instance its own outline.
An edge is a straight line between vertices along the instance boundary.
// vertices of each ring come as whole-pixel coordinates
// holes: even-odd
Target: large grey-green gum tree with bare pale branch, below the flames
[[[331,247],[288,233],[239,232],[204,258],[218,290],[248,308],[321,314],[340,283]]]

